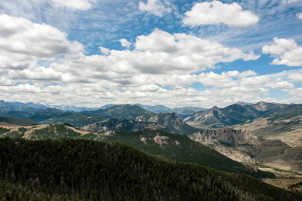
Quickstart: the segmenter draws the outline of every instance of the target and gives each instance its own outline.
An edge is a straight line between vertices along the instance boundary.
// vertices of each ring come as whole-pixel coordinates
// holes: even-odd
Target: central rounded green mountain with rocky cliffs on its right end
[[[129,119],[142,122],[155,122],[167,126],[174,132],[193,133],[197,129],[187,125],[176,113],[152,113],[141,108],[138,105],[113,105],[106,109],[95,111],[84,111],[85,114],[91,117],[101,116],[104,119]]]

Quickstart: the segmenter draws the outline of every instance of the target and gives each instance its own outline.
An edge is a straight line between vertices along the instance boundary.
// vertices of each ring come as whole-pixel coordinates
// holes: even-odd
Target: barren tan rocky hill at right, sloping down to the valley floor
[[[263,140],[246,129],[200,131],[190,138],[239,162],[257,162],[281,169],[301,170],[302,146],[291,147],[281,140]]]

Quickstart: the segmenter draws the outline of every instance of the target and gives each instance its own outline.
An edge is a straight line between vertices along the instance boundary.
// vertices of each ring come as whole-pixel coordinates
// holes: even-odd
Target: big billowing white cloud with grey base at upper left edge
[[[84,53],[81,43],[67,40],[66,33],[46,24],[2,14],[0,27],[0,66],[25,68],[31,61]]]

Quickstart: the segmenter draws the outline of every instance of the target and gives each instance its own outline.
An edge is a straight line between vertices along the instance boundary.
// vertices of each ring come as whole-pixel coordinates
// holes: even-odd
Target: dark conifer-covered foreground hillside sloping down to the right
[[[298,201],[258,179],[118,143],[0,139],[1,200]]]

